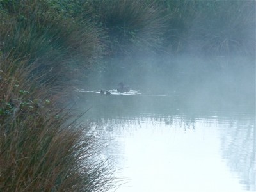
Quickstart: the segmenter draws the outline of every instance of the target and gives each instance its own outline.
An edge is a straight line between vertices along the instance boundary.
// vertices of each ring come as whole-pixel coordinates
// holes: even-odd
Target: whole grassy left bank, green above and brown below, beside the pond
[[[0,1],[0,191],[108,191],[113,168],[93,126],[63,109],[104,45],[93,23],[50,3]]]

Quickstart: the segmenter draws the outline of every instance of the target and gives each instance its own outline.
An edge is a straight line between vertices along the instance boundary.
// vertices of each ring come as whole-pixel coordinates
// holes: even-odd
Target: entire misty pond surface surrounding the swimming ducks
[[[124,180],[116,191],[256,191],[255,58],[127,56],[106,65],[77,94]],[[118,93],[120,82],[131,91]]]

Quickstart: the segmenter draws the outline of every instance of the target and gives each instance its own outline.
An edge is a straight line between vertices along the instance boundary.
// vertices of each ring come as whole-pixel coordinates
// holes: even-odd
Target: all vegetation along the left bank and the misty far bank
[[[92,125],[67,124],[73,87],[120,72],[109,58],[184,53],[255,57],[255,1],[0,0],[0,190],[113,187]]]

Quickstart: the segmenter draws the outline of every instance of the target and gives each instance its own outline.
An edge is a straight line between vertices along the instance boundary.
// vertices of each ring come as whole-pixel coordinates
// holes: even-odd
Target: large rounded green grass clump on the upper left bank
[[[104,44],[95,24],[64,17],[47,1],[4,2],[11,1],[1,2],[6,10],[0,14],[4,58],[36,64],[33,76],[44,74],[40,83],[54,77],[52,84],[74,84],[77,76],[97,68]]]

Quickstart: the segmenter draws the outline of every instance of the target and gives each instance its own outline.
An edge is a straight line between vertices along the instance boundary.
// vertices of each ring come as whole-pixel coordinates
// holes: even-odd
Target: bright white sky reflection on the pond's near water
[[[201,120],[195,130],[184,131],[164,121],[135,121],[114,133],[122,150],[117,166],[125,167],[118,177],[128,179],[116,192],[243,191],[221,158],[218,122]]]

